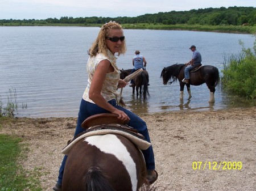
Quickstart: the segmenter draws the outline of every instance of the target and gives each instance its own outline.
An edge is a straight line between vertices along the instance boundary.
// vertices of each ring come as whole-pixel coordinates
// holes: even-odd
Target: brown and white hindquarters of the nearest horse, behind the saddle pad
[[[104,126],[102,129],[108,130]],[[147,170],[143,154],[122,135],[102,133],[83,137],[68,151],[63,191],[137,191],[144,185]]]

